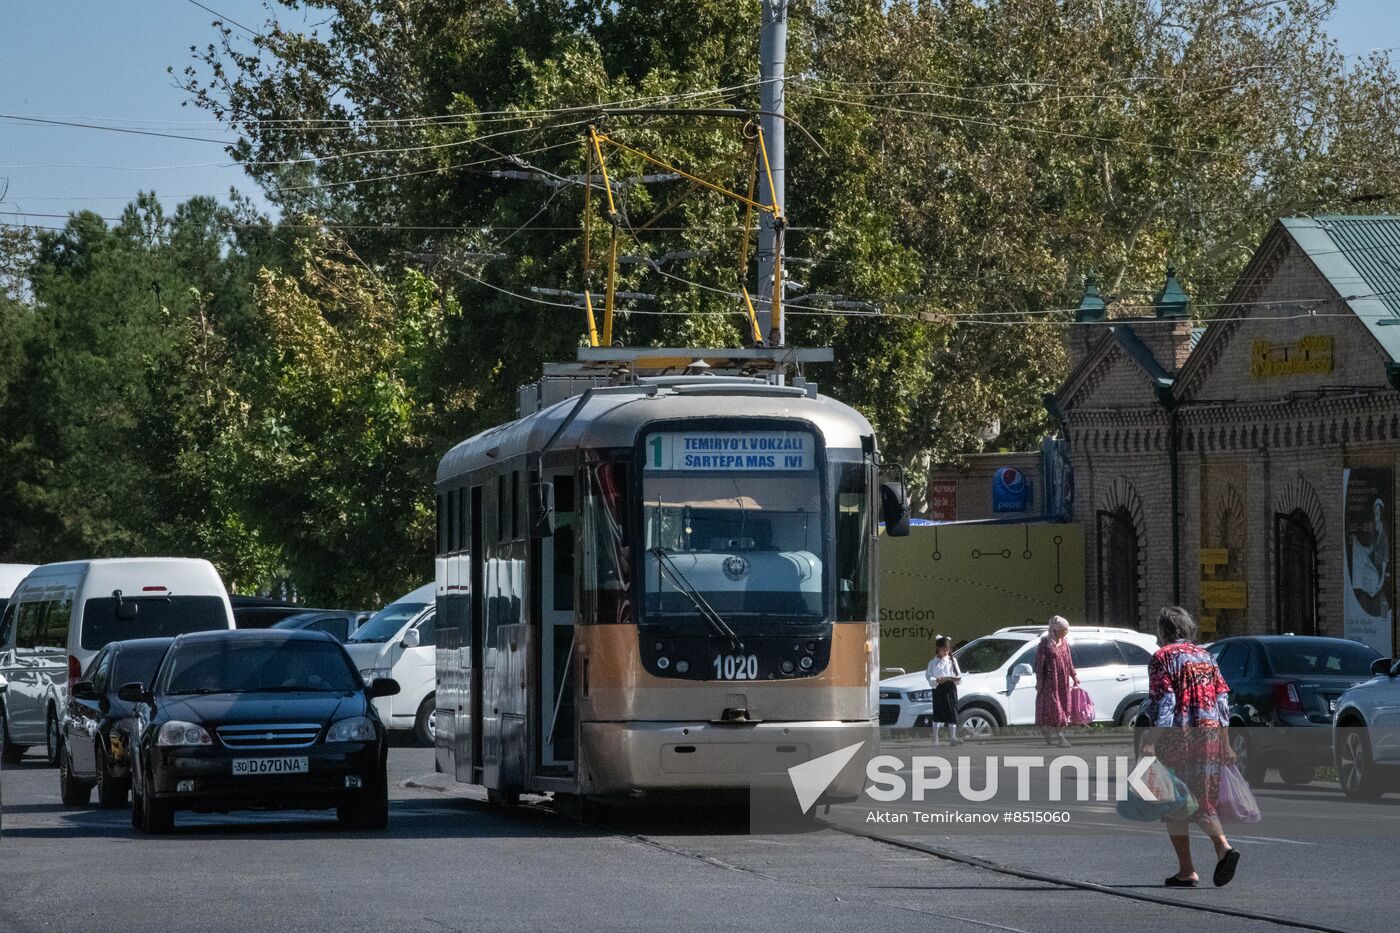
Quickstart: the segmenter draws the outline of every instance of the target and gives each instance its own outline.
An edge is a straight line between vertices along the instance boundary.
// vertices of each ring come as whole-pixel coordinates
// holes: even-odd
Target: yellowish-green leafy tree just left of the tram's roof
[[[389,280],[339,240],[297,244],[256,286],[263,350],[239,360],[213,454],[251,527],[312,601],[370,605],[420,586],[434,516],[442,332],[459,310],[427,277]]]

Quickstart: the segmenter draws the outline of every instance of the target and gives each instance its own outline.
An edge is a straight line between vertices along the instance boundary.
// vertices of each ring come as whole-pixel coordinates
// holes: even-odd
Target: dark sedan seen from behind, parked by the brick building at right
[[[1359,642],[1305,635],[1228,637],[1207,650],[1229,684],[1231,745],[1253,785],[1270,768],[1306,785],[1331,763],[1337,698],[1369,679],[1380,657]]]

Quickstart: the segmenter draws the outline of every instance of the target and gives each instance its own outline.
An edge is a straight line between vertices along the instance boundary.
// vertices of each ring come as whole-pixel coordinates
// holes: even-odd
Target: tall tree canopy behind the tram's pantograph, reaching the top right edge
[[[325,35],[270,21],[249,48],[225,29],[186,85],[241,133],[234,153],[270,198],[368,226],[350,234],[367,259],[452,283],[465,308],[448,331],[465,363],[455,378],[482,399],[463,433],[507,417],[514,385],[567,357],[581,332],[577,312],[531,301],[531,286],[582,287],[580,192],[490,172],[580,172],[570,143],[601,101],[756,101],[753,0],[686,15],[659,0],[283,6],[330,14]],[[819,377],[904,458],[956,459],[993,422],[1002,444],[1032,443],[1047,427],[1040,398],[1064,375],[1063,308],[1089,269],[1131,300],[1175,261],[1208,307],[1275,214],[1396,191],[1400,160],[1365,158],[1396,147],[1397,111],[1379,106],[1394,76],[1385,57],[1348,71],[1323,31],[1330,11],[1330,0],[794,4],[790,113],[820,147],[790,132],[792,276],[883,314],[801,308],[797,294],[791,339],[836,346],[840,366]],[[606,126],[746,182],[732,125]],[[630,226],[678,193],[662,188],[626,189]],[[699,258],[626,268],[624,287],[658,297],[623,318],[623,336],[739,340],[732,206],[692,192],[662,217],[657,227],[685,228],[648,228],[626,249]]]

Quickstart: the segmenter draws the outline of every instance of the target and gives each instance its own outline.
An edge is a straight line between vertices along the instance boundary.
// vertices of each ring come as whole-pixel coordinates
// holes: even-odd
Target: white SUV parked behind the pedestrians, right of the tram
[[[986,738],[1004,726],[1036,721],[1036,675],[1032,665],[1044,629],[1012,626],[953,653],[962,668],[958,724],[962,738]],[[1095,719],[1130,724],[1147,700],[1147,664],[1156,637],[1133,629],[1078,625],[1070,629],[1070,657],[1079,685],[1093,700]],[[879,723],[885,728],[923,728],[932,716],[932,691],[923,671],[879,684]]]

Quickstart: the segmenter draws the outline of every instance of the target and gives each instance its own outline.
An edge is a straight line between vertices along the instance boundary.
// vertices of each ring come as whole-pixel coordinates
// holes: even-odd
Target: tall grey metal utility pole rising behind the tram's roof
[[[773,172],[773,185],[769,186],[769,174],[759,165],[759,200],[764,205],[776,205],[783,209],[783,175],[785,170],[784,134],[784,70],[787,67],[787,14],[788,0],[763,0],[763,28],[759,34],[759,126],[763,129],[763,140],[769,153],[769,168]],[[762,158],[762,156],[760,156]],[[781,310],[777,315],[777,325],[773,321],[773,276],[783,263],[783,235],[778,230],[781,214],[767,214],[759,221],[759,289],[755,312],[759,318],[759,331],[766,335],[769,346],[787,345],[787,319]],[[780,296],[781,300],[781,296]]]

